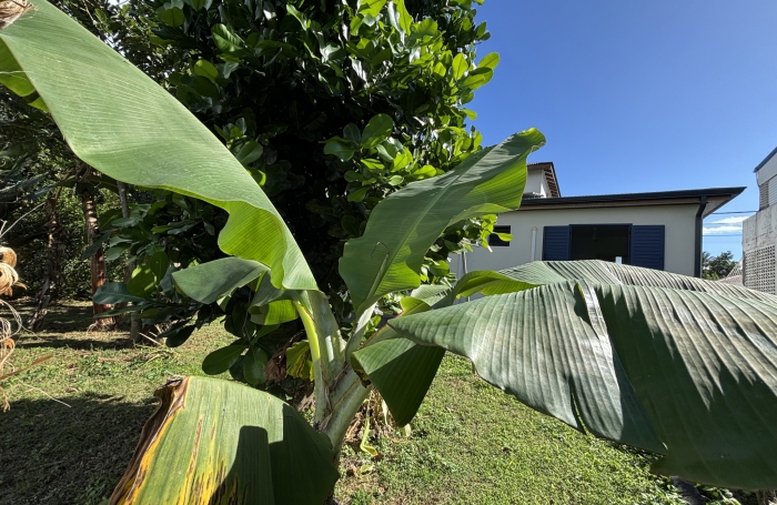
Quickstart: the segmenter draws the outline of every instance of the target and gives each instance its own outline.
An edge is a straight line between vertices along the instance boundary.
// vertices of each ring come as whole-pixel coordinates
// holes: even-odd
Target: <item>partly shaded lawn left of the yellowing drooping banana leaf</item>
[[[1,384],[11,402],[0,413],[2,505],[100,504],[155,410],[154,390],[202,375],[202,357],[234,340],[212,326],[175,350],[135,346],[127,332],[84,331],[91,322],[90,304],[68,303],[17,342],[17,367],[53,357]]]

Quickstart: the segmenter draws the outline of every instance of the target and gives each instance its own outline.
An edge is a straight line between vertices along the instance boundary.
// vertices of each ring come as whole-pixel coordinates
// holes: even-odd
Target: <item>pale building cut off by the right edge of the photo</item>
[[[777,294],[775,244],[777,243],[777,149],[755,168],[758,181],[758,212],[746,219],[741,230],[743,284],[751,290]]]

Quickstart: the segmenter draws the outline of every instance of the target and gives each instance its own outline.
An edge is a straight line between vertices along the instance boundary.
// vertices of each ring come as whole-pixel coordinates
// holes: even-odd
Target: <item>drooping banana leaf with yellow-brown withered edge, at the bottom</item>
[[[321,505],[334,487],[329,437],[276,397],[204,377],[157,395],[111,505]]]

